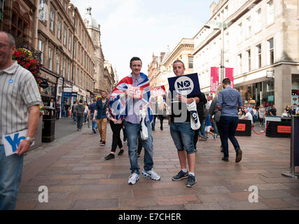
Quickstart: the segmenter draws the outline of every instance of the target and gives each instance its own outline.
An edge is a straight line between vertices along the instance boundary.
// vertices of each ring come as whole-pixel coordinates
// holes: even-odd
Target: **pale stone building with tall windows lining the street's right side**
[[[279,115],[292,99],[298,102],[298,1],[221,0],[210,11],[192,52],[202,92],[210,91],[210,68],[221,66],[223,41],[223,65],[234,69],[244,102],[275,104]]]

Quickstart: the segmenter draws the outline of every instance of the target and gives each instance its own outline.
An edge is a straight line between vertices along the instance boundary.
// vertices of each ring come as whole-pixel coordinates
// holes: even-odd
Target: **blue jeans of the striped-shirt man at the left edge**
[[[0,210],[15,209],[22,170],[23,155],[6,157],[4,145],[0,145]]]

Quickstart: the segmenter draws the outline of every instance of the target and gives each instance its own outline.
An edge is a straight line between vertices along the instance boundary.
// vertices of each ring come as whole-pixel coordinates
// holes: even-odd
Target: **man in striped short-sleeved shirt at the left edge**
[[[34,76],[12,60],[14,52],[13,37],[0,31],[0,210],[15,209],[23,155],[34,141],[41,104]],[[27,137],[20,141],[16,153],[6,156],[4,135],[26,129]]]

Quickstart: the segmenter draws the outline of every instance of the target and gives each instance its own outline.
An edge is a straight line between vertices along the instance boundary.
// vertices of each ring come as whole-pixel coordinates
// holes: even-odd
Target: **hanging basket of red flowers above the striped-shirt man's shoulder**
[[[41,77],[39,76],[39,62],[34,59],[32,52],[26,48],[18,48],[13,54],[13,60],[17,61],[20,66],[29,70],[34,76],[36,83],[41,83]]]

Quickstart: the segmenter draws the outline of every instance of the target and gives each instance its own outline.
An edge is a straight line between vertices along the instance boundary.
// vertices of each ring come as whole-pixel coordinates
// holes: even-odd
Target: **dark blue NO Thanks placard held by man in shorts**
[[[168,83],[172,97],[176,94],[185,97],[200,94],[200,82],[197,73],[168,78]]]

